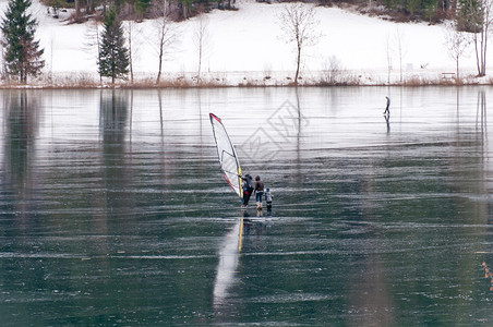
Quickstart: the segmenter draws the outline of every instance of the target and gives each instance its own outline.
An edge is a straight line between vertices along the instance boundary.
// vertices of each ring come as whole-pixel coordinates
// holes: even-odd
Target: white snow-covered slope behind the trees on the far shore
[[[2,12],[5,5],[7,0],[1,0]],[[203,81],[225,86],[292,83],[294,55],[279,37],[278,16],[285,4],[241,0],[236,5],[238,11],[214,10],[205,14],[209,37],[202,65]],[[94,22],[68,24],[63,15],[53,19],[37,0],[32,11],[39,22],[37,38],[45,48],[46,68],[40,83],[47,80],[57,85],[81,81],[88,85],[97,83],[97,50],[91,46]],[[448,83],[450,75],[444,73],[455,73],[455,61],[445,46],[443,24],[393,23],[339,8],[316,7],[315,12],[323,36],[316,46],[306,48],[301,84],[337,80],[340,84],[354,85],[435,84]],[[177,81],[189,81],[183,85],[193,85],[199,60],[193,34],[199,20],[173,23],[177,37],[164,63],[164,80],[171,85]],[[134,24],[132,34],[135,76],[144,84],[145,81],[152,84],[158,68],[156,24],[153,21]],[[486,63],[491,60],[493,58]],[[491,83],[488,76],[473,77],[472,48],[469,56],[461,59],[460,70],[466,83]]]

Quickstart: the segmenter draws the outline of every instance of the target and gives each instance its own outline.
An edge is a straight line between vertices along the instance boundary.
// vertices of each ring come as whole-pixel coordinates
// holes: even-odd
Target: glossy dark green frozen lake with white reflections
[[[491,325],[491,94],[1,90],[0,325]]]

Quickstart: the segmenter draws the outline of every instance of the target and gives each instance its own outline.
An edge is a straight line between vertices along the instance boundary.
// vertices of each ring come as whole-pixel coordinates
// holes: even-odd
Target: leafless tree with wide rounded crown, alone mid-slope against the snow
[[[287,44],[294,44],[297,55],[297,71],[294,84],[298,84],[302,51],[305,47],[314,46],[322,37],[317,29],[320,22],[315,19],[314,7],[304,3],[287,4],[278,16],[282,31],[281,38]]]

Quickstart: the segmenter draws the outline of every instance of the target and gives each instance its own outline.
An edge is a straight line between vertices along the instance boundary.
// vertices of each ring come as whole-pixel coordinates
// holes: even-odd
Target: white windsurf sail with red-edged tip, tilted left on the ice
[[[240,178],[241,167],[235,147],[220,119],[214,113],[209,113],[209,118],[211,124],[213,125],[214,138],[216,140],[220,170],[238,196],[243,197]]]

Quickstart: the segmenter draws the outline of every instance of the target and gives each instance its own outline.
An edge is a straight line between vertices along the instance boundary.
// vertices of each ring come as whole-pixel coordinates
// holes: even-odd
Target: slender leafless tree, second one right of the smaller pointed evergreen
[[[158,56],[158,71],[156,77],[156,84],[159,84],[161,73],[163,73],[163,61],[165,60],[165,56],[170,52],[172,44],[176,39],[177,31],[175,26],[171,24],[171,20],[169,16],[168,10],[168,1],[160,0],[155,3],[154,7],[154,16],[157,17],[155,20],[156,32],[157,32],[157,43],[153,44],[157,56]]]

